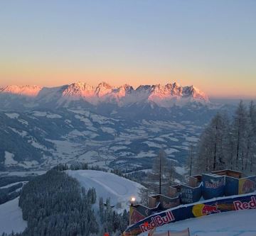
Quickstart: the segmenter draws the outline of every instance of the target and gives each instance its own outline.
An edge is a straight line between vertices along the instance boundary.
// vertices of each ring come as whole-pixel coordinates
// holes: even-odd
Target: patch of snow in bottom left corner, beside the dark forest
[[[26,226],[21,208],[18,207],[18,198],[0,205],[0,235],[3,232],[22,232]]]

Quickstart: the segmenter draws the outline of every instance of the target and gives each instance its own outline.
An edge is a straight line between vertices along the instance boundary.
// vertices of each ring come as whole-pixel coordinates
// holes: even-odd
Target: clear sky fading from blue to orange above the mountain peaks
[[[256,98],[256,1],[3,1],[0,86],[178,82]]]

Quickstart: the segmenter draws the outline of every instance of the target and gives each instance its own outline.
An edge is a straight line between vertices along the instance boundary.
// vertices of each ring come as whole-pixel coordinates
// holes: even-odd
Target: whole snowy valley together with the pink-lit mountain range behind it
[[[0,170],[87,162],[131,172],[150,169],[162,148],[182,174],[189,145],[225,108],[176,83],[6,86],[0,89]]]

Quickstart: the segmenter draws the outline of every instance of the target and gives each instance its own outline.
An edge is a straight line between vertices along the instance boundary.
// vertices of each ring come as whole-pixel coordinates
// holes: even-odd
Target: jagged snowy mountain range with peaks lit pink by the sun
[[[184,106],[191,102],[209,103],[208,96],[195,86],[181,86],[177,83],[140,85],[137,89],[127,84],[110,86],[105,82],[96,87],[84,82],[52,88],[10,85],[0,89],[0,99],[4,107],[10,106],[16,100],[23,101],[25,107],[36,107],[46,103],[55,103],[57,107],[68,106],[73,101],[85,101],[92,106],[111,103],[119,107],[134,103],[152,103],[164,108]]]

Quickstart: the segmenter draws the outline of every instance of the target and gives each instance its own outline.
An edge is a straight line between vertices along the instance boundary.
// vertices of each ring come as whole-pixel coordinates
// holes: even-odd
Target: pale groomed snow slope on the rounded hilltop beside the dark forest
[[[102,197],[103,201],[111,198],[111,205],[114,206],[117,206],[117,203],[121,203],[122,208],[120,210],[129,209],[129,199],[132,196],[139,200],[139,188],[143,188],[141,184],[108,172],[68,170],[67,173],[78,179],[85,189],[94,187],[97,193],[97,201]]]

